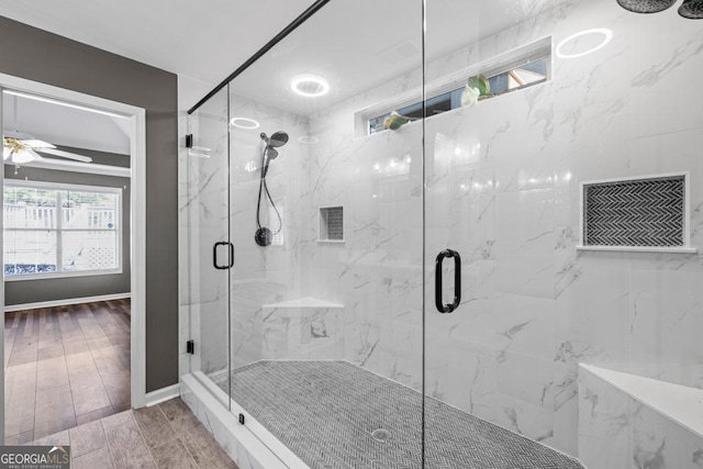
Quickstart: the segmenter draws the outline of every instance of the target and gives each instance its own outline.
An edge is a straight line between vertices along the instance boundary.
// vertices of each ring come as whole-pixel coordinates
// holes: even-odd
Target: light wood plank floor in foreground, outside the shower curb
[[[238,469],[180,398],[33,442],[70,446],[74,469]]]

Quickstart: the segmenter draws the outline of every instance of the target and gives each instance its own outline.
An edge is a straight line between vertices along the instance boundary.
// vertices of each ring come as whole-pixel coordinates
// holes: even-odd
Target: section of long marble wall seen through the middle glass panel
[[[311,116],[311,202],[344,206],[344,245],[311,252],[311,294],[345,306],[345,357],[422,388],[422,126],[355,137],[354,113],[417,88],[409,74]]]

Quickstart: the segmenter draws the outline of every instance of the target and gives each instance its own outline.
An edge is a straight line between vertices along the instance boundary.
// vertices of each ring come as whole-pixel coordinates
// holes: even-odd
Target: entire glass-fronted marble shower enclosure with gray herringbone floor
[[[189,115],[186,401],[243,468],[699,467],[639,390],[703,388],[701,31],[316,2]]]

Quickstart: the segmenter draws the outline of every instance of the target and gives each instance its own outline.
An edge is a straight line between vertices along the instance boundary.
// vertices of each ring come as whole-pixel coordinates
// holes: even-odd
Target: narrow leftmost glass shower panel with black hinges
[[[189,116],[188,216],[191,371],[230,407],[230,243],[227,89]]]

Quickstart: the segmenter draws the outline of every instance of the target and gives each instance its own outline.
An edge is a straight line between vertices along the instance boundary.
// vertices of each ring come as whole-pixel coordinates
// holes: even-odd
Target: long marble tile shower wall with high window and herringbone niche
[[[701,255],[576,249],[580,182],[673,171],[691,174],[691,239],[703,246],[703,93],[691,88],[703,31],[676,14],[565,1],[427,68],[432,80],[593,27],[613,31],[606,47],[555,56],[548,83],[428,119],[425,135],[425,280],[444,247],[462,254],[465,272],[454,314],[436,313],[426,289],[428,392],[572,455],[579,361],[703,387]],[[321,141],[311,201],[343,204],[346,236],[311,246],[310,288],[345,304],[349,361],[416,389],[421,125],[355,138],[353,115],[419,77],[310,121]]]

